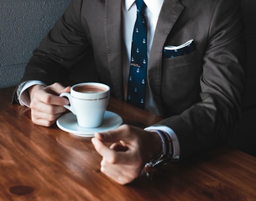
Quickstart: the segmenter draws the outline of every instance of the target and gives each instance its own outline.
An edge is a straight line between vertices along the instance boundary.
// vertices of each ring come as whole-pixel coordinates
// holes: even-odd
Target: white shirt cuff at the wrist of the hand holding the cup
[[[28,96],[28,93],[26,92],[26,89],[33,85],[46,85],[42,81],[37,80],[30,80],[25,81],[21,83],[17,89],[17,97],[19,100],[19,103],[23,106],[30,107],[30,97]]]

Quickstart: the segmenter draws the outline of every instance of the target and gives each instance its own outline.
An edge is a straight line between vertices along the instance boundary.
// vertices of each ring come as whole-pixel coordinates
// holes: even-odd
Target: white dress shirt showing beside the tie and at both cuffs
[[[148,26],[148,58],[150,55],[150,50],[153,42],[153,36],[155,34],[155,27],[157,25],[157,20],[159,17],[159,13],[161,11],[161,7],[163,5],[163,0],[158,1],[152,1],[152,0],[144,0],[146,4],[146,20],[147,20],[147,26]],[[129,76],[129,68],[130,68],[130,55],[131,55],[131,47],[132,47],[132,34],[134,29],[134,24],[136,21],[136,13],[137,13],[137,7],[135,0],[124,0],[124,3],[122,4],[122,19],[123,21],[123,37],[124,38],[124,47],[125,50],[123,50],[123,76],[124,76],[124,97],[126,99],[126,93],[127,93],[127,86],[128,86],[128,76]],[[26,105],[29,107],[30,105],[30,99],[25,93],[26,89],[28,87],[31,87],[32,85],[41,84],[45,85],[44,83],[40,81],[26,81],[25,83],[21,83],[19,85],[17,90],[17,95],[19,97],[19,102],[21,105]],[[147,87],[148,88],[148,87]],[[147,89],[146,93],[146,110],[149,112],[155,113],[155,107],[153,105],[151,94],[149,93],[149,90]],[[171,128],[167,126],[149,126],[148,128],[145,128],[145,130],[162,130],[163,132],[169,134],[171,136],[171,140],[173,141],[173,159],[179,158],[179,141],[178,138],[171,130]]]

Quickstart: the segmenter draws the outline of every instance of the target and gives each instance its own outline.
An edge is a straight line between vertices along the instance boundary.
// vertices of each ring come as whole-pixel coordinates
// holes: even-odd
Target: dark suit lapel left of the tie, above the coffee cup
[[[111,93],[122,99],[122,1],[105,1],[105,42],[107,46],[107,65],[110,72],[108,83]]]

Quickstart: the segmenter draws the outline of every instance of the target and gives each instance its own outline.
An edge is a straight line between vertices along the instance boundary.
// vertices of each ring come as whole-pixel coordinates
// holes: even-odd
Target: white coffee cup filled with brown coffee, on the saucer
[[[107,110],[110,87],[103,83],[79,83],[71,87],[70,93],[62,93],[67,97],[69,105],[64,105],[77,116],[77,123],[83,128],[97,128],[103,123]]]

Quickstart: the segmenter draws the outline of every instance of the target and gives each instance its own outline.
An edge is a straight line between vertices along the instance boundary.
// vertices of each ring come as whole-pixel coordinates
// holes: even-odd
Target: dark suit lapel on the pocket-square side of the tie
[[[148,65],[149,90],[152,93],[153,101],[158,107],[157,113],[163,114],[161,108],[161,77],[162,77],[162,54],[167,36],[171,32],[175,22],[181,15],[184,6],[179,0],[165,0],[161,8],[153,44],[150,52]]]

